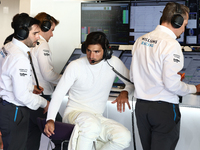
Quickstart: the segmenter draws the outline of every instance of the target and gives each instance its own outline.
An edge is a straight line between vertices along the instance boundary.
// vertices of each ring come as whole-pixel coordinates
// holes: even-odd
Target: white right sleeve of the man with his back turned
[[[188,93],[195,93],[196,87],[189,85],[180,80],[180,75],[177,74],[183,68],[183,54],[180,46],[172,45],[168,47],[172,51],[163,59],[163,84],[165,89],[177,95],[184,96]],[[170,51],[170,50],[168,50]]]

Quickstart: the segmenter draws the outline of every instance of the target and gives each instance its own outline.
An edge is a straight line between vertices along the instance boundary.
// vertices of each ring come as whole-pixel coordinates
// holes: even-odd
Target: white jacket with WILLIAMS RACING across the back
[[[176,35],[158,25],[133,45],[130,78],[134,96],[145,100],[179,103],[177,95],[195,93],[196,87],[180,81],[177,73],[183,68],[183,54]]]

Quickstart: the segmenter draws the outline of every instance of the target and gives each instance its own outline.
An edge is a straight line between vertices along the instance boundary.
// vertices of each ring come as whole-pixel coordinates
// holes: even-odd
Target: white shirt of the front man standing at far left
[[[13,38],[0,50],[0,97],[17,106],[44,108],[47,101],[33,94],[29,48]]]

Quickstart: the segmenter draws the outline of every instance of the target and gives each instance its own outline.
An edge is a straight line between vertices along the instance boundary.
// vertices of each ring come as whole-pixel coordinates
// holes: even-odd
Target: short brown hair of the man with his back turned
[[[178,7],[178,8],[177,8]],[[179,9],[179,10],[177,10]],[[179,12],[177,12],[179,11]],[[187,6],[175,2],[169,2],[166,4],[163,14],[160,18],[160,24],[162,22],[171,23],[173,15],[180,13],[180,15],[186,19],[186,14],[189,14],[190,10]]]

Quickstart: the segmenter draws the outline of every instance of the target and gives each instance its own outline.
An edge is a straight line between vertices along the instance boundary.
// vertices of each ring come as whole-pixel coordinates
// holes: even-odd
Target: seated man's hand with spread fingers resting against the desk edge
[[[127,103],[129,109],[131,109],[131,106],[128,101],[128,92],[127,91],[121,91],[119,96],[116,98],[116,100],[112,101],[112,104],[117,103],[117,111],[120,113],[125,111],[125,104]]]

